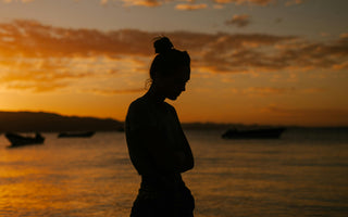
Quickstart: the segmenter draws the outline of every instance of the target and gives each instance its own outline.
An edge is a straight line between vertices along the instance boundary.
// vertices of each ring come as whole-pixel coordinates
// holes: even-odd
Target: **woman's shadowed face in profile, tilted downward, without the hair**
[[[165,98],[170,100],[176,100],[177,97],[186,90],[186,84],[190,78],[189,66],[183,66],[177,68],[173,75],[162,77],[161,89]]]

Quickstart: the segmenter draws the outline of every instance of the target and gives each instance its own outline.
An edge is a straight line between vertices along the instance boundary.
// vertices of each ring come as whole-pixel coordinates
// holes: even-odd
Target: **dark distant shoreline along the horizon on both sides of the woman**
[[[229,128],[348,128],[348,126],[287,126],[287,125],[246,125],[227,123],[183,123],[184,129],[197,130],[226,130]],[[49,112],[0,112],[0,132],[61,132],[61,131],[120,131],[124,122],[113,118],[65,116]]]

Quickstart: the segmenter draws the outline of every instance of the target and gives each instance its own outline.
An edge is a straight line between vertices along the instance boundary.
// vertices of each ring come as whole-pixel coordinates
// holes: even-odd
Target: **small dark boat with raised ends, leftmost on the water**
[[[11,146],[23,146],[28,144],[42,144],[45,138],[36,132],[35,137],[24,137],[17,133],[7,132],[5,138],[11,142]]]

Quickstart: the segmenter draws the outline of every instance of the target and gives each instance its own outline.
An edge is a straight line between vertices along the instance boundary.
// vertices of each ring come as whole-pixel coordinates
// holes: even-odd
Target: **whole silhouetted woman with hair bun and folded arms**
[[[141,176],[130,217],[192,217],[195,201],[181,174],[194,167],[194,156],[175,108],[164,102],[185,91],[190,58],[166,37],[153,46],[151,87],[129,105],[126,117],[130,161]]]

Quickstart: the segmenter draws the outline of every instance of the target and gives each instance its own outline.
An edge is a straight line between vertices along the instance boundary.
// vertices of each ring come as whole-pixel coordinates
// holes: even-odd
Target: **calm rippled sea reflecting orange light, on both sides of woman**
[[[347,129],[289,129],[279,140],[186,133],[196,217],[348,216]],[[17,149],[0,136],[0,216],[129,216],[140,178],[123,133],[44,136],[44,145]]]

